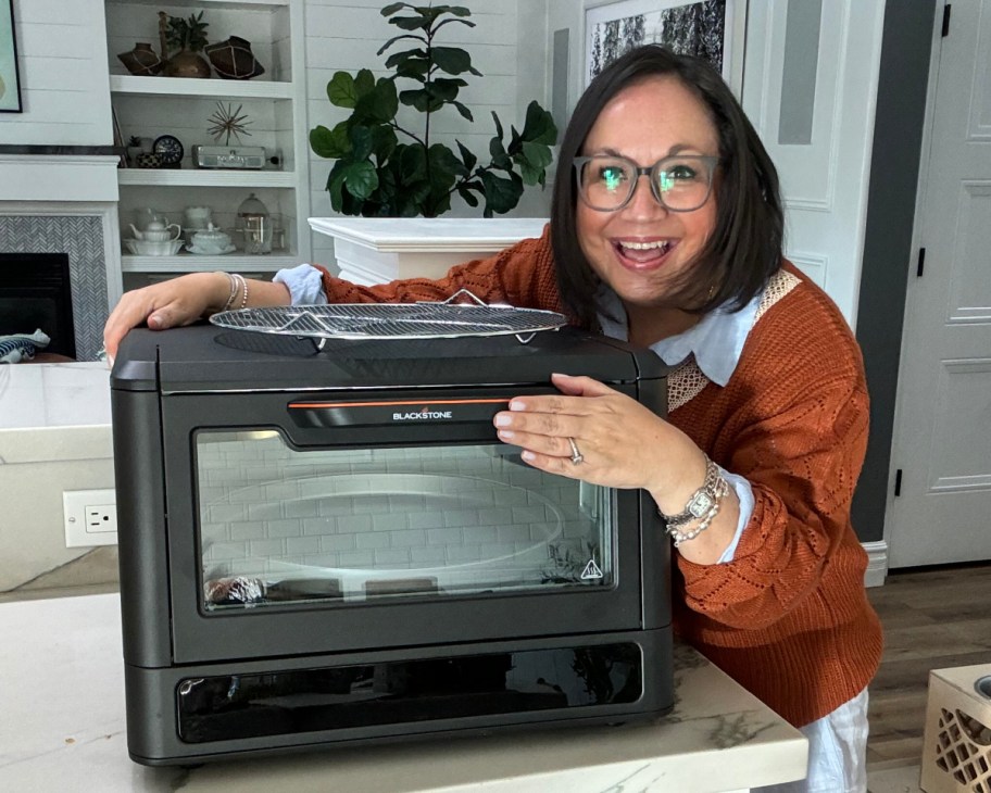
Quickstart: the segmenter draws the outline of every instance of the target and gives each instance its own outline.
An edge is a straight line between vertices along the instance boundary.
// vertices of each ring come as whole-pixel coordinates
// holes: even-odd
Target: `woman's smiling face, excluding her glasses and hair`
[[[670,76],[625,88],[602,110],[581,153],[622,154],[648,167],[672,154],[719,153],[716,128],[702,104]],[[600,212],[577,202],[578,240],[586,259],[628,307],[665,305],[673,276],[692,262],[716,224],[716,200],[672,212],[653,197],[648,176],[629,203]]]

